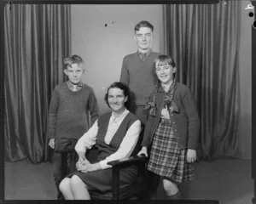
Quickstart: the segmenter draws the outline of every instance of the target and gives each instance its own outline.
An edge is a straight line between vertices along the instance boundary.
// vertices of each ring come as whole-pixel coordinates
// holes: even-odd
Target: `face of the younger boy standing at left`
[[[67,75],[70,82],[77,85],[81,82],[81,78],[84,75],[84,69],[81,65],[74,63],[71,66],[67,66],[64,73]]]

